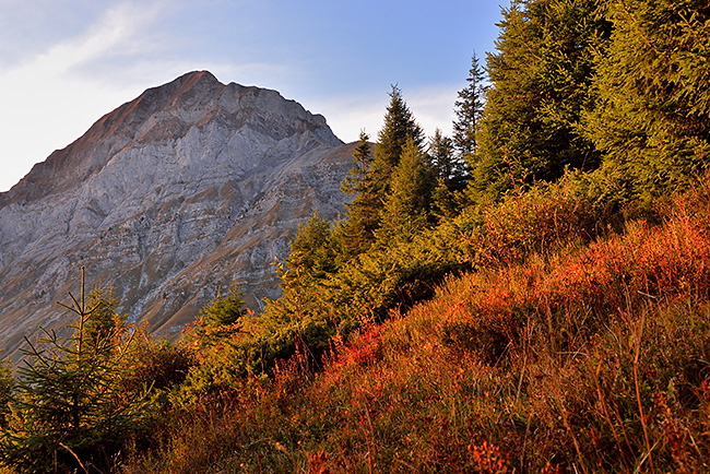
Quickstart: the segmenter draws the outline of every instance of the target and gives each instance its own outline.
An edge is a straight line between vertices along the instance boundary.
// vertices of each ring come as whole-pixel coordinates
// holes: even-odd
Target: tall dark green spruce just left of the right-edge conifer
[[[594,55],[610,29],[601,1],[513,0],[504,9],[497,52],[487,58],[474,195],[599,165],[581,116],[593,107]]]

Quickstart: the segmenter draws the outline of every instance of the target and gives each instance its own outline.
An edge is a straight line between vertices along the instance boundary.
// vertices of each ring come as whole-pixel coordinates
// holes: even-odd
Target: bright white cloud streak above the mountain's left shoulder
[[[76,71],[113,51],[135,48],[135,33],[156,13],[155,8],[120,3],[107,10],[84,35],[0,73],[0,191],[140,92],[108,90]]]

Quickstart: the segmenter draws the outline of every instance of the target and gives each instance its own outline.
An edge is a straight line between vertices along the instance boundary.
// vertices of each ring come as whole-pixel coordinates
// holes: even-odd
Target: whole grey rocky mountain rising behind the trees
[[[55,301],[81,265],[166,336],[233,281],[258,309],[298,223],[342,211],[351,167],[352,145],[275,91],[209,72],[147,90],[0,193],[0,347],[71,321]]]

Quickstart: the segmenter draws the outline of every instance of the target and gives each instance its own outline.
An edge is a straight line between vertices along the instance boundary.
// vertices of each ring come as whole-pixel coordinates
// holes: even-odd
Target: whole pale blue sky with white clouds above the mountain
[[[450,133],[471,55],[498,35],[492,0],[0,0],[0,191],[147,87],[210,70],[274,88],[372,138],[391,84]]]

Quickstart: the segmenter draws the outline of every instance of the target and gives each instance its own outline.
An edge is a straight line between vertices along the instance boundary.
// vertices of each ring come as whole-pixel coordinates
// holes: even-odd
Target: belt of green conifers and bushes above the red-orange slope
[[[263,315],[235,287],[165,345],[126,328],[100,292],[75,300],[73,339],[48,334],[19,379],[1,380],[0,462],[118,465],[119,452],[169,443],[176,414],[246,396],[285,366],[317,372],[448,275],[622,232],[707,171],[706,1],[514,0],[499,27],[485,68],[472,57],[451,138],[427,139],[392,87],[375,143],[360,133],[346,215],[299,228],[279,263],[283,296]]]

